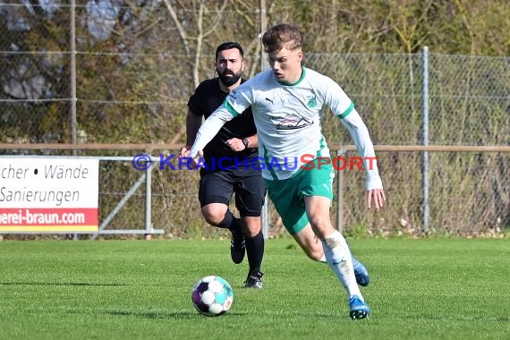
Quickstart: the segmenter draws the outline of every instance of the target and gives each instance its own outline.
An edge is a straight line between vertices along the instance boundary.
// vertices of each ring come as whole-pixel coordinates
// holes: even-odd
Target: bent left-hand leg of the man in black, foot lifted
[[[244,259],[245,243],[242,223],[234,217],[228,204],[234,194],[234,183],[222,172],[200,173],[199,200],[202,215],[209,225],[226,228],[232,233],[230,255],[234,263]]]

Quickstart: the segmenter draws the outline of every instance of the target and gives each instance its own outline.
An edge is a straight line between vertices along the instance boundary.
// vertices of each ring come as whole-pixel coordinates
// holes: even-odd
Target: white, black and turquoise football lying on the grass
[[[206,276],[193,287],[191,301],[200,314],[216,317],[230,310],[234,292],[223,277]]]

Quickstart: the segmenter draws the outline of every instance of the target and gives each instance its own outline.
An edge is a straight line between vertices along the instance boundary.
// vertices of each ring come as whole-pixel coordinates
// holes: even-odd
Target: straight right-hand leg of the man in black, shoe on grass
[[[248,257],[248,276],[244,282],[249,288],[262,288],[261,272],[264,257],[264,235],[262,234],[260,215],[266,196],[266,186],[259,172],[240,171],[236,183],[235,204],[242,219]]]

